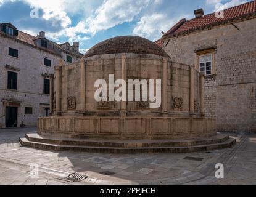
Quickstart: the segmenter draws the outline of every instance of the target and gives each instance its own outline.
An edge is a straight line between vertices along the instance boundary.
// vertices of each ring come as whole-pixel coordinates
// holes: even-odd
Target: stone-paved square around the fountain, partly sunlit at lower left
[[[75,184],[256,184],[256,134],[236,135],[234,147],[207,153],[114,155],[20,147],[29,132],[36,129],[0,129],[0,184],[74,184],[57,179],[73,172],[88,176]],[[217,163],[224,179],[215,178]],[[31,164],[39,166],[38,179],[30,177]]]

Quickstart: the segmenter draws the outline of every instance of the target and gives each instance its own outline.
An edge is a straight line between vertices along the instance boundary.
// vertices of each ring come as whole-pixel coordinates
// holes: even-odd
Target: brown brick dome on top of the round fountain
[[[104,54],[154,54],[169,57],[165,51],[154,42],[138,36],[118,36],[96,44],[86,52],[84,58]]]

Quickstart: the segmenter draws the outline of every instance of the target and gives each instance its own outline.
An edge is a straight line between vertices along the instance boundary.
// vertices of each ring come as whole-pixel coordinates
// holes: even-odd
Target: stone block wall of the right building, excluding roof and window
[[[256,19],[165,40],[175,62],[196,65],[196,50],[215,47],[215,74],[205,77],[205,115],[218,131],[256,131]],[[165,46],[163,44],[163,46]]]

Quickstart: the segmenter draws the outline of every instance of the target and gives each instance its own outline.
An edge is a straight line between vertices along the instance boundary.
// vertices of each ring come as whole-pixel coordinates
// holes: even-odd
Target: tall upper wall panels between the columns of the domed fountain
[[[126,82],[128,79],[162,79],[163,60],[157,55],[143,55],[139,57],[136,54],[126,55]],[[94,87],[97,79],[104,79],[109,84],[109,74],[114,74],[114,81],[122,78],[122,54],[119,55],[100,55],[85,59],[85,100],[87,113],[115,113],[120,112],[120,102],[107,102],[105,105],[96,102],[94,93],[98,87]],[[61,67],[60,99],[62,115],[79,116],[81,112],[80,103],[80,62]],[[189,115],[189,94],[190,94],[190,67],[188,65],[167,62],[167,110],[171,113],[186,113]],[[194,72],[195,81],[195,100],[200,103],[200,78],[199,73]],[[56,82],[55,82],[56,83]],[[56,86],[56,85],[55,85]],[[114,90],[116,90],[115,88]],[[128,95],[128,88],[127,88]],[[75,98],[76,106],[68,109],[68,98]],[[142,98],[141,98],[142,100]],[[177,105],[180,103],[180,106]],[[126,109],[130,116],[136,116],[141,112],[162,113],[162,107],[149,108],[149,106],[138,106],[139,102],[127,102]],[[145,104],[146,105],[146,104]],[[196,112],[200,115],[199,106]],[[81,115],[81,114],[80,114]]]

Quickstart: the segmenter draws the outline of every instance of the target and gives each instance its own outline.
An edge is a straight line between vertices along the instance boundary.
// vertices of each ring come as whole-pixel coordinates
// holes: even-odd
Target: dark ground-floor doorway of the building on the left
[[[6,107],[6,128],[17,127],[18,108]]]

